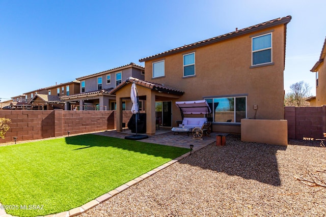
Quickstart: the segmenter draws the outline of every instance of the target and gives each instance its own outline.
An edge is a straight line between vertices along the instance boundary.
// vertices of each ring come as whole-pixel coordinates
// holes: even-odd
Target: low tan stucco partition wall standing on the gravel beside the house
[[[287,120],[241,119],[241,141],[287,145]]]

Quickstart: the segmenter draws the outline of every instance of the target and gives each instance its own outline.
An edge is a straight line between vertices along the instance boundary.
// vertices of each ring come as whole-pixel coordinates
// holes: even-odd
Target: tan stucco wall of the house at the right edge
[[[318,86],[316,87],[315,106],[326,105],[326,65],[324,63],[318,69]]]

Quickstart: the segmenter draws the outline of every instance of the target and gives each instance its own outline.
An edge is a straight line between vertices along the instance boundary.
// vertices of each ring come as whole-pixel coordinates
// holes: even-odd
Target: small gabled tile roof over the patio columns
[[[116,86],[113,90],[110,91],[110,94],[115,95],[116,91],[126,85],[127,83],[135,82],[135,84],[144,86],[158,92],[166,92],[168,94],[183,95],[184,91],[176,89],[174,87],[166,86],[164,84],[153,83],[149,81],[143,81],[138,78],[129,77],[127,80],[123,81],[121,84]]]

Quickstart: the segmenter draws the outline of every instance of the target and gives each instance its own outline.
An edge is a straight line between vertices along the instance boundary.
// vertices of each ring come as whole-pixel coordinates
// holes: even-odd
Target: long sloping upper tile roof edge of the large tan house
[[[196,47],[199,47],[199,46],[204,46],[204,45],[208,45],[208,44],[211,44],[211,43],[226,40],[226,39],[229,39],[229,38],[233,38],[233,37],[236,37],[236,36],[240,36],[240,35],[243,35],[243,34],[248,34],[248,33],[257,31],[259,29],[267,28],[267,27],[270,27],[270,26],[275,26],[275,25],[280,25],[280,24],[287,24],[288,22],[291,21],[291,18],[292,18],[291,16],[286,16],[286,17],[282,17],[282,18],[269,20],[269,21],[266,21],[266,22],[263,22],[263,23],[259,23],[257,25],[253,25],[253,26],[250,26],[250,27],[247,27],[247,28],[242,28],[242,29],[239,29],[239,30],[236,29],[234,32],[231,32],[231,33],[228,33],[228,34],[224,34],[224,35],[221,35],[221,36],[217,36],[217,37],[213,37],[213,38],[206,39],[206,40],[203,40],[203,41],[199,41],[199,42],[196,42],[196,43],[193,43],[193,44],[188,44],[188,45],[184,45],[184,46],[181,46],[181,47],[178,47],[178,48],[174,48],[172,50],[168,50],[168,51],[165,51],[165,52],[162,52],[162,53],[158,53],[158,54],[155,54],[155,55],[152,55],[152,56],[142,58],[139,61],[144,62],[144,61],[148,61],[148,60],[151,60],[151,59],[155,59],[157,57],[166,56],[166,55],[169,55],[171,53],[177,53],[177,52],[181,52],[181,51],[184,51],[184,50],[193,49],[193,48],[196,48]]]

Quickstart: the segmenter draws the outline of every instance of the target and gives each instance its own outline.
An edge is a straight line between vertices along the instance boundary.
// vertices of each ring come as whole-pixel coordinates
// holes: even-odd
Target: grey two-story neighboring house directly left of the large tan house
[[[76,78],[80,81],[79,94],[63,96],[68,110],[115,110],[116,97],[110,90],[128,77],[144,79],[145,68],[134,63]],[[131,109],[130,99],[123,101],[124,110]]]

